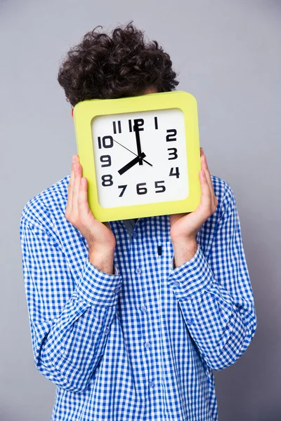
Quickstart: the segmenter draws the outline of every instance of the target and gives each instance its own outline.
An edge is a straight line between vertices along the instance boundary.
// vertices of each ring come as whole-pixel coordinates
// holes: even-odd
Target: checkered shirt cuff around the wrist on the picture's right
[[[174,256],[171,261],[171,268],[173,268],[173,262]],[[188,298],[203,288],[211,286],[213,279],[213,272],[211,272],[200,245],[197,244],[195,255],[187,262],[171,270],[168,283],[174,289],[176,298],[181,299]]]

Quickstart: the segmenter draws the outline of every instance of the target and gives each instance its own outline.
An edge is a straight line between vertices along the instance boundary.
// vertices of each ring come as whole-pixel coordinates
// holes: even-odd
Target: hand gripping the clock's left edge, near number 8
[[[82,177],[79,156],[74,155],[73,158],[65,218],[84,235],[89,245],[89,254],[93,251],[99,255],[107,252],[112,254],[116,244],[115,235],[108,222],[100,222],[93,216],[88,203],[87,179]]]

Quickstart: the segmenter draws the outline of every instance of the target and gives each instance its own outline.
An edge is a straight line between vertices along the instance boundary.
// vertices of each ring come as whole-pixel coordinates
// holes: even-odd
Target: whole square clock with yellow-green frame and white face
[[[200,203],[195,97],[185,91],[78,102],[77,154],[100,222],[191,212]]]

